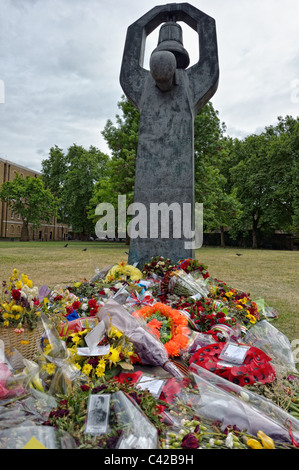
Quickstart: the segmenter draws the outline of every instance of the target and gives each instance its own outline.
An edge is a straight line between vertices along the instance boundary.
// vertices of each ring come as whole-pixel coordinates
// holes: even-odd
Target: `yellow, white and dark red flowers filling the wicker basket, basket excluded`
[[[27,274],[14,269],[9,282],[2,282],[0,299],[0,326],[14,328],[15,333],[23,333],[24,328],[34,330],[43,309],[39,289],[33,286]]]

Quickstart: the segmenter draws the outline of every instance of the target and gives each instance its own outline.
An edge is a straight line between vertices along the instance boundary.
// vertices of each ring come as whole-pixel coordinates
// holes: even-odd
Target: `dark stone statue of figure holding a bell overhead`
[[[199,38],[199,60],[189,68],[180,32],[177,37],[178,21],[194,29]],[[161,23],[160,43],[151,55],[150,70],[146,70],[145,40]],[[180,230],[171,225],[175,217],[178,221],[174,211],[168,212],[168,236],[167,230],[162,236],[162,216],[158,229],[149,234],[157,223],[157,218],[151,218],[151,209],[161,203],[168,208],[179,205],[183,215],[183,208],[190,205],[194,228],[194,118],[216,92],[218,79],[215,21],[197,8],[188,3],[158,6],[129,26],[120,83],[140,112],[134,203],[147,208],[147,235],[131,238],[130,264],[141,267],[157,255],[174,262],[194,258],[194,247],[189,244],[186,248],[191,237],[184,232],[184,220],[179,220]]]

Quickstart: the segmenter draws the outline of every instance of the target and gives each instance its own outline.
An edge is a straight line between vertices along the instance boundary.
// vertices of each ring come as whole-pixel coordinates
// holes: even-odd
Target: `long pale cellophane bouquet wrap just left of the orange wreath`
[[[109,300],[99,311],[98,317],[109,328],[110,321],[113,326],[122,331],[133,343],[141,361],[144,364],[163,367],[171,375],[181,377],[180,370],[169,361],[169,356],[163,344],[149,333],[128,311],[115,302]]]

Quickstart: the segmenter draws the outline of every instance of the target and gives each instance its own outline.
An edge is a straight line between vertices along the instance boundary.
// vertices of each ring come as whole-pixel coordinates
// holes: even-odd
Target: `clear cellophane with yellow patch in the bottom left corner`
[[[0,430],[0,449],[76,449],[76,443],[54,427],[25,424]]]

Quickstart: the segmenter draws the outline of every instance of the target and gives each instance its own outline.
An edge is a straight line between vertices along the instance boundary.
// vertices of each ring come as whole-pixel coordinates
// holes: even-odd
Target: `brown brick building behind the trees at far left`
[[[37,171],[0,158],[0,186],[5,181],[12,181],[17,173],[23,178],[26,176],[37,178],[40,175]],[[22,225],[20,214],[15,214],[6,203],[0,200],[0,239],[19,239]],[[67,240],[68,226],[57,222],[57,218],[53,217],[50,223],[42,223],[35,230],[32,230],[29,225],[29,236],[30,240]]]

